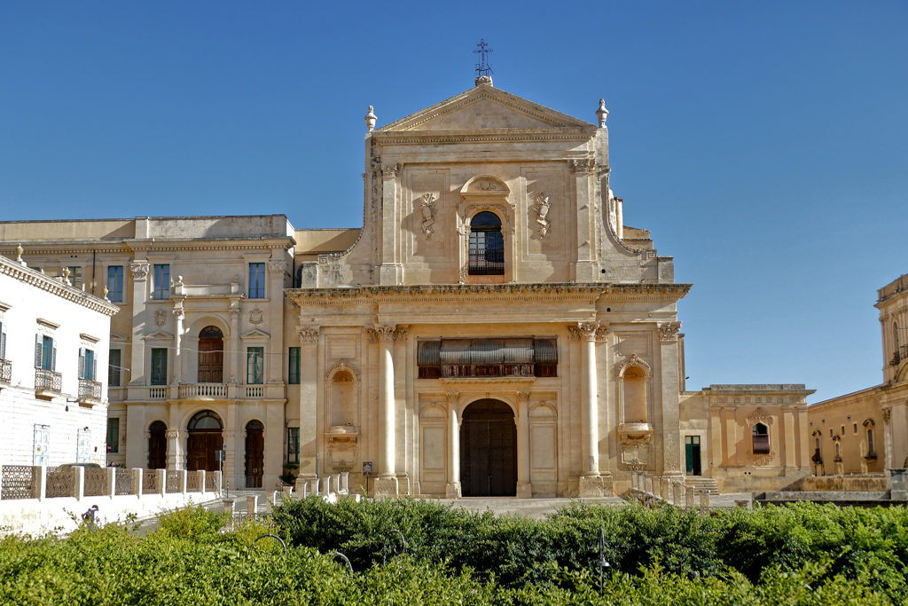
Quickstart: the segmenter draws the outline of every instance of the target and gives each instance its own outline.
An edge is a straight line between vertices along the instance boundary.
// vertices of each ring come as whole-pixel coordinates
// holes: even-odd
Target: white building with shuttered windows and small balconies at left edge
[[[111,316],[118,311],[60,278],[0,256],[2,464],[104,465],[104,361]]]

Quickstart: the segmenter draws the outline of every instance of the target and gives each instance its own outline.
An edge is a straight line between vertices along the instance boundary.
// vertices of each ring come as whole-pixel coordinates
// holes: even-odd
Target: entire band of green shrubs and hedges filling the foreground
[[[224,533],[223,514],[199,508],[163,515],[145,537],[111,525],[6,538],[0,603],[904,603],[906,521],[904,508],[799,504],[708,516],[574,505],[538,522],[310,499]],[[601,595],[600,528],[610,563]],[[253,544],[269,532],[287,540],[286,555],[278,541]]]

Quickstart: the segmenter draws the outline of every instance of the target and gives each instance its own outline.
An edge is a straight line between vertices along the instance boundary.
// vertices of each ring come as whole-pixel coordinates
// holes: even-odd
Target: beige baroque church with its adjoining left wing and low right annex
[[[620,494],[641,470],[721,492],[810,474],[804,385],[686,390],[692,284],[624,224],[607,114],[483,75],[391,124],[369,108],[361,229],[9,222],[0,253],[21,244],[126,309],[104,389],[109,460],[129,467],[222,465],[264,488],[349,472],[353,492],[448,498]]]

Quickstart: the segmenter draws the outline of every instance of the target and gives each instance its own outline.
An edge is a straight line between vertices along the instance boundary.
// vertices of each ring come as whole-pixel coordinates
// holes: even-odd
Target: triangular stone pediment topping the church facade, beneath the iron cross
[[[597,127],[516,94],[481,84],[376,131],[393,133],[548,128],[595,131]]]

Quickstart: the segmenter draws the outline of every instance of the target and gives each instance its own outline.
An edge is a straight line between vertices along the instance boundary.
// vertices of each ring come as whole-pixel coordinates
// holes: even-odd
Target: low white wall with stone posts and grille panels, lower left
[[[220,498],[220,472],[206,478],[205,472],[112,467],[88,471],[86,479],[82,467],[66,472],[53,468],[48,472],[41,466],[0,468],[0,536],[73,531],[82,515],[94,508],[100,523],[123,522],[130,515],[142,518]]]

